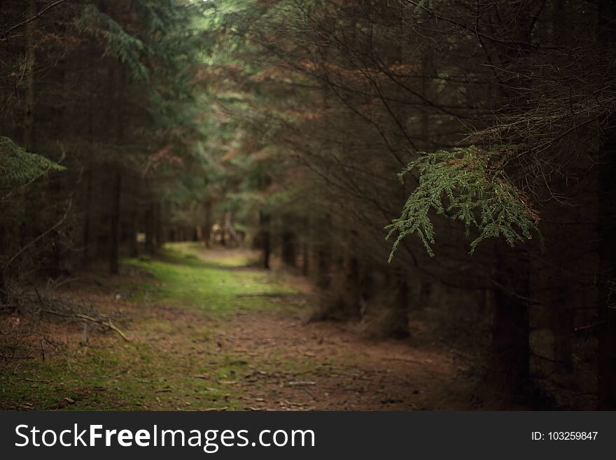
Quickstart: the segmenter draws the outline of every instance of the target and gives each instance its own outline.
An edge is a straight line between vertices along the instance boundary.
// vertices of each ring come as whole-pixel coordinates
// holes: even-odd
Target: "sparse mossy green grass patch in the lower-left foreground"
[[[244,366],[235,358],[223,355],[219,363],[208,361],[204,349],[170,354],[144,342],[72,351],[69,358],[32,361],[21,372],[2,375],[2,405],[14,402],[11,408],[37,410],[242,408],[239,393],[225,385],[242,374]]]

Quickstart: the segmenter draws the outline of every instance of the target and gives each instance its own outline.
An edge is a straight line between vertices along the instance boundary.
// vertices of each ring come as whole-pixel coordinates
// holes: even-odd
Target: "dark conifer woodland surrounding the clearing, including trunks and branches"
[[[0,0],[0,305],[166,242],[616,409],[616,2]],[[392,251],[393,249],[393,251]]]

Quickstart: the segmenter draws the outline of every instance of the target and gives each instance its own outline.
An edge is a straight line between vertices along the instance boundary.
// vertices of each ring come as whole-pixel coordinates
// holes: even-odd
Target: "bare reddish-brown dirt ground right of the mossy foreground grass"
[[[308,363],[297,379],[284,366],[255,372],[242,386],[254,409],[426,410],[454,374],[454,357],[405,342],[367,340],[342,324],[302,324],[297,316],[251,312],[221,327],[221,348],[272,361]],[[255,383],[256,383],[255,382]]]

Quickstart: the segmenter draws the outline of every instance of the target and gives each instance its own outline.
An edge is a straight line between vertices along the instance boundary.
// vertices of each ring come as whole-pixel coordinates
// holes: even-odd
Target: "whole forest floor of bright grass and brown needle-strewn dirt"
[[[88,321],[1,319],[3,334],[29,338],[13,359],[2,355],[0,409],[469,408],[468,360],[421,324],[400,341],[308,321],[318,300],[307,282],[253,267],[252,256],[174,244],[125,260],[121,276],[57,289],[113,318],[128,340]]]

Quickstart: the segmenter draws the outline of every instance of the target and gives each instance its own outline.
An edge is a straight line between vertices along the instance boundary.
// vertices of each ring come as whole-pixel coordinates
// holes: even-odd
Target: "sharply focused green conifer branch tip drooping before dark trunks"
[[[531,239],[539,222],[528,195],[507,178],[502,166],[514,154],[514,146],[501,146],[484,151],[475,146],[421,153],[400,172],[402,179],[412,170],[419,172],[419,185],[409,196],[399,218],[386,226],[387,238],[398,237],[393,243],[391,262],[402,239],[416,233],[434,256],[434,225],[430,210],[461,221],[470,236],[476,228],[479,236],[470,243],[470,252],[484,239],[502,235],[511,246]]]

